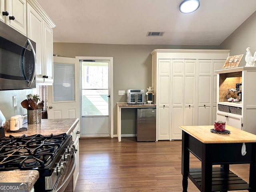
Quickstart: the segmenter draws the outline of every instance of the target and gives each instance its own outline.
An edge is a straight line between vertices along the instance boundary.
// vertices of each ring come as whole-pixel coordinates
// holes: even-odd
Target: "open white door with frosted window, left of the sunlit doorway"
[[[47,86],[48,118],[80,119],[79,59],[54,57],[54,82]]]

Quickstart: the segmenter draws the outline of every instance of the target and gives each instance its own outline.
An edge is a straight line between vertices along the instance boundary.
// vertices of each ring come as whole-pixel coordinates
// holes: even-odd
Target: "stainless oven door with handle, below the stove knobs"
[[[68,166],[68,170],[66,171],[66,174],[63,174],[58,178],[58,182],[54,186],[51,192],[64,192],[68,184],[73,180],[73,174],[74,174],[75,168],[76,168],[76,155],[74,154],[72,158],[72,162]]]

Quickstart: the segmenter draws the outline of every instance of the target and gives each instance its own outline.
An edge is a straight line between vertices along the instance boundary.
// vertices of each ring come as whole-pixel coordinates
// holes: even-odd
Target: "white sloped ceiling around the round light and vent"
[[[192,14],[179,12],[182,0],[37,1],[56,24],[54,42],[220,45],[256,11],[256,0],[200,0]]]

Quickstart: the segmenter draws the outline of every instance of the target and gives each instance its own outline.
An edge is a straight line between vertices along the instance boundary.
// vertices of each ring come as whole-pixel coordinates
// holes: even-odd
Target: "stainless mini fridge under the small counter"
[[[136,114],[137,141],[156,141],[156,108],[138,108]]]

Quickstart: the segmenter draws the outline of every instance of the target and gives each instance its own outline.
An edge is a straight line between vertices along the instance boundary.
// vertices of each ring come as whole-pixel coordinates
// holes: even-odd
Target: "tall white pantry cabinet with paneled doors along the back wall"
[[[182,139],[182,125],[213,124],[214,70],[222,68],[229,50],[156,49],[151,54],[157,140]]]

